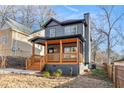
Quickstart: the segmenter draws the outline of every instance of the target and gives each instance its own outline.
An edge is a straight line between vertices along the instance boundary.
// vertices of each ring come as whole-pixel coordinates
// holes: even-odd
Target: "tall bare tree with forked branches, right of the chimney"
[[[115,28],[118,26],[119,20],[124,16],[124,12],[120,13],[118,16],[114,16],[115,6],[100,6],[102,10],[102,17],[104,18],[103,24],[100,32],[104,33],[107,38],[107,55],[108,55],[108,63],[110,64],[110,55],[111,55],[111,48],[115,46],[118,42],[117,40],[117,33],[113,35],[113,33],[117,32]],[[101,22],[102,23],[102,22]],[[113,44],[114,43],[114,44]]]

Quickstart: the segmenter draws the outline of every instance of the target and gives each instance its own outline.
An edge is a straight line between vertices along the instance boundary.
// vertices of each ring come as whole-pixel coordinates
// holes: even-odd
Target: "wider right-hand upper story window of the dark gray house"
[[[66,26],[65,34],[67,34],[67,35],[77,34],[77,25]]]

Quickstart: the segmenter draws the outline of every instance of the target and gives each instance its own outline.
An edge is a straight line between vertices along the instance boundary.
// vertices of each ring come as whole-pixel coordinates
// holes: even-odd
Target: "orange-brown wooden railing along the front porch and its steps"
[[[77,53],[62,53],[62,57],[60,57],[60,53],[47,54],[46,56],[34,55],[26,60],[26,69],[29,69],[31,66],[35,65],[35,63],[39,64],[38,67],[40,70],[43,69],[44,65],[47,63],[76,63],[78,58],[79,63],[83,63],[83,55],[79,53],[77,57]]]

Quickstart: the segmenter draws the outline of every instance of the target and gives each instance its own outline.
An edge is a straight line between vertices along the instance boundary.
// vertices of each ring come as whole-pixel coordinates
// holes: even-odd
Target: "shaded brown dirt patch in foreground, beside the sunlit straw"
[[[112,83],[92,76],[78,76],[73,81],[61,85],[62,88],[112,88]]]

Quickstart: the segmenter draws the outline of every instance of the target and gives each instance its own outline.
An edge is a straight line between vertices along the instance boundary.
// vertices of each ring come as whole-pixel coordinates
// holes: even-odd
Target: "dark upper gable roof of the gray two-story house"
[[[60,24],[60,25],[69,25],[69,24],[75,24],[75,23],[84,23],[85,20],[84,19],[70,19],[70,20],[65,20],[65,21],[58,21],[54,18],[49,19],[44,25],[43,27],[47,27],[47,25],[52,22],[55,21],[56,23]]]

